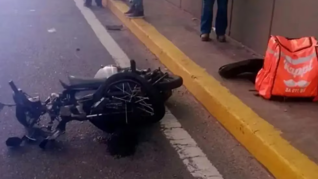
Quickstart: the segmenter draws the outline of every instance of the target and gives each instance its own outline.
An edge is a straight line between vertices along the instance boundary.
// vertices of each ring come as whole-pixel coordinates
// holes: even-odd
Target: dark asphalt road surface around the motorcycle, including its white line
[[[127,28],[105,30],[105,25],[121,25],[110,11],[83,11],[79,2],[0,0],[1,102],[12,102],[9,80],[44,99],[62,89],[59,79],[93,76],[100,65],[125,63],[121,57],[126,54],[138,68],[165,68]],[[167,107],[172,114],[163,122],[115,142],[107,142],[112,136],[88,122],[71,122],[46,151],[31,144],[6,147],[5,140],[22,136],[24,128],[14,108],[5,108],[0,114],[0,178],[273,178],[184,87],[174,91]],[[118,158],[109,152],[116,147],[131,153]]]

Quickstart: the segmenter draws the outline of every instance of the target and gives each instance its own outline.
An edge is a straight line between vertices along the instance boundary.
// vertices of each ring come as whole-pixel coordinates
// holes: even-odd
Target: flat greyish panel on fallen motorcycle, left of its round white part
[[[70,85],[60,81],[64,89],[98,89],[107,78],[68,77]]]

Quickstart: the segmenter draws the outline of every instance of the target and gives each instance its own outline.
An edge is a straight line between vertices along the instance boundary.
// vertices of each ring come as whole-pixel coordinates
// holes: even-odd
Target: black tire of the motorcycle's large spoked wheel
[[[152,124],[160,121],[164,115],[165,115],[165,106],[164,101],[160,98],[160,93],[157,91],[156,88],[154,88],[149,82],[147,82],[144,78],[141,76],[129,73],[129,72],[123,72],[123,73],[117,73],[112,76],[110,76],[101,86],[100,88],[94,93],[94,101],[99,101],[102,97],[105,96],[105,92],[108,90],[108,87],[116,82],[120,82],[123,80],[130,80],[134,81],[144,89],[143,91],[147,94],[149,97],[149,101],[151,101],[151,105],[154,109],[155,115],[151,117],[147,117],[143,120],[136,120],[132,125],[142,125],[142,124]],[[116,118],[117,116],[114,116]],[[132,118],[132,117],[131,117]],[[120,125],[116,122],[109,122],[110,120],[101,120],[101,118],[91,118],[89,121],[95,125],[97,128],[107,132],[112,133],[116,130],[116,127],[121,127],[120,125],[126,125],[123,123],[120,123]]]

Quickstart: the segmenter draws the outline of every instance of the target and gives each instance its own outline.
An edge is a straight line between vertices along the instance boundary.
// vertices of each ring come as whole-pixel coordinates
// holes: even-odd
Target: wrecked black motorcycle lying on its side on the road
[[[15,106],[16,118],[27,134],[8,138],[7,146],[40,138],[39,147],[44,149],[49,141],[65,133],[66,124],[73,120],[89,120],[107,133],[129,125],[156,123],[165,115],[164,102],[172,95],[172,89],[180,87],[183,80],[160,68],[138,70],[131,60],[128,68],[107,65],[94,78],[69,76],[69,84],[60,83],[64,88],[61,93],[52,93],[41,101],[9,82],[15,104],[0,103],[0,107]]]

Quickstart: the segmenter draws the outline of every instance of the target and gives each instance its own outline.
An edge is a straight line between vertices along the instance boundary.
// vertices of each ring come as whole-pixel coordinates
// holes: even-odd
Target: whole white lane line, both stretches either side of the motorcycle
[[[82,0],[73,0],[82,12],[88,24],[92,27],[100,42],[113,56],[117,64],[123,67],[129,66],[129,58],[118,46],[107,30],[101,25],[94,13],[83,6]],[[223,179],[190,134],[185,131],[178,120],[168,110],[165,117],[160,121],[162,132],[176,150],[184,165],[195,178]]]

